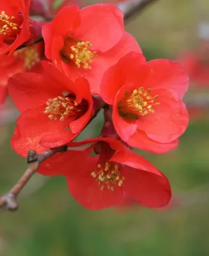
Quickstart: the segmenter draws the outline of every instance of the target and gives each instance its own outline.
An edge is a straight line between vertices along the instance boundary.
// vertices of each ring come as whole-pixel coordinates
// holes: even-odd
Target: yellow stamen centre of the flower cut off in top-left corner
[[[16,36],[20,32],[19,22],[15,16],[6,15],[5,11],[0,14],[0,35],[3,36]]]

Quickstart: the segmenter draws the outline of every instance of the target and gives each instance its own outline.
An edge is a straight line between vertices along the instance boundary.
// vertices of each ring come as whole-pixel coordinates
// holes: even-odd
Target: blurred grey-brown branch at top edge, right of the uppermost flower
[[[126,21],[155,1],[157,0],[127,0],[122,3],[118,3],[118,8],[123,11],[124,20]]]

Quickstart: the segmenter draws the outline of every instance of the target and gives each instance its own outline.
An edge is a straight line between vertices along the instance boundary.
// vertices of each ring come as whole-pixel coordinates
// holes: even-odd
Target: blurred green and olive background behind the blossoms
[[[147,59],[181,61],[187,52],[199,55],[202,43],[207,43],[199,38],[201,22],[209,22],[208,0],[160,0],[127,20],[126,29]],[[208,256],[209,101],[203,104],[207,99],[209,80],[201,85],[191,79],[185,97],[190,123],[178,148],[163,155],[140,152],[171,182],[173,199],[167,208],[153,211],[129,202],[121,208],[88,211],[70,197],[65,178],[36,174],[20,194],[19,210],[0,212],[0,255]],[[10,147],[17,114],[10,99],[0,112],[3,193],[20,178],[26,164]],[[101,125],[100,113],[78,139],[97,135]]]

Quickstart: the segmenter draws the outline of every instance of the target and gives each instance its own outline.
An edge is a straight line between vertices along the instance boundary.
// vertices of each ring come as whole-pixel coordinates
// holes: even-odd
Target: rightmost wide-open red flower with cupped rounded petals
[[[178,144],[188,125],[181,99],[188,78],[180,65],[167,59],[145,62],[130,53],[104,73],[101,96],[113,105],[118,135],[135,148],[167,152]]]

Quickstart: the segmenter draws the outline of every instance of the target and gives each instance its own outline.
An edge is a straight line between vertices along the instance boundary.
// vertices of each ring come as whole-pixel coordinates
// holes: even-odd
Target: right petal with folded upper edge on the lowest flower
[[[115,153],[111,161],[125,164],[122,188],[139,204],[157,208],[166,206],[171,199],[169,180],[153,164],[132,150]]]

